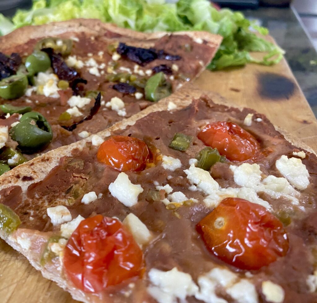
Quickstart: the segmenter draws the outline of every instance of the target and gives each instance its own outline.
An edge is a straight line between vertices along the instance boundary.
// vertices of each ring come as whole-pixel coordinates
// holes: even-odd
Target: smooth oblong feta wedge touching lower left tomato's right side
[[[152,235],[146,225],[133,213],[129,213],[122,223],[132,233],[133,238],[139,244],[143,246],[151,241]]]

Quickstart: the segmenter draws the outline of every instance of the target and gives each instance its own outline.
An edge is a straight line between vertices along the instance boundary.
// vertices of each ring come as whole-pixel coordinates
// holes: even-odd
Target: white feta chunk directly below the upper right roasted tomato
[[[261,182],[260,165],[243,163],[240,166],[230,165],[233,179],[237,185],[254,187]]]

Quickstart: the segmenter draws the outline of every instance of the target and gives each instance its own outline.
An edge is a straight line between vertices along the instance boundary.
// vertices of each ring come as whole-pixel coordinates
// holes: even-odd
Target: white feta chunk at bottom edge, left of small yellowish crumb
[[[259,298],[255,286],[247,279],[241,279],[238,283],[227,288],[227,293],[237,303],[258,303]]]

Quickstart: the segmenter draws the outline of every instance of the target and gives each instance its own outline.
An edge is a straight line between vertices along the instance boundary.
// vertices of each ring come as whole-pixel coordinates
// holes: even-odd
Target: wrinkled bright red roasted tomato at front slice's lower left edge
[[[131,233],[113,218],[96,215],[81,221],[67,242],[65,271],[87,293],[141,276],[143,253]]]

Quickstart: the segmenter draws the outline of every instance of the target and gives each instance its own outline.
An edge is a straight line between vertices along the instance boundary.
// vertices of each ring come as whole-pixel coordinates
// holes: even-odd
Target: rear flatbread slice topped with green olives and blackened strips
[[[221,40],[203,31],[139,33],[95,19],[0,37],[0,80],[18,83],[12,90],[0,85],[1,160],[14,167],[131,117],[196,78]],[[49,125],[41,134],[37,124],[26,130],[26,117],[38,128],[44,119]]]

